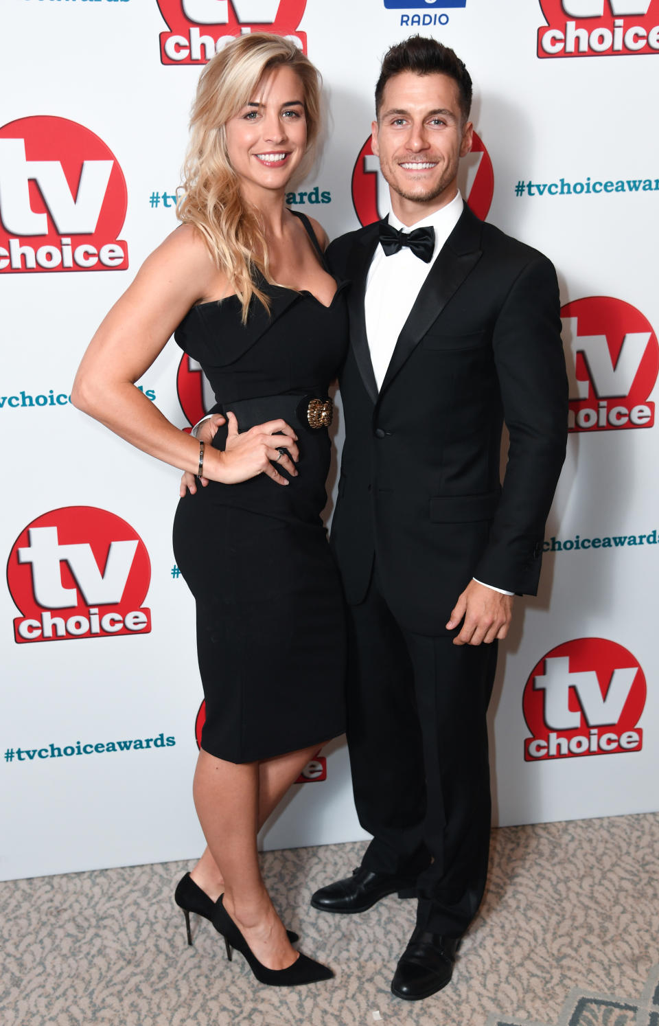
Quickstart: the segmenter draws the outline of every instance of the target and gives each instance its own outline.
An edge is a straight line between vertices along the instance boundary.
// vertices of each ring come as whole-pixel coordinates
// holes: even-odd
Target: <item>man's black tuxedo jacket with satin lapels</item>
[[[375,223],[336,239],[326,254],[332,272],[352,281],[331,541],[349,603],[363,600],[376,556],[399,622],[441,635],[472,577],[536,593],[567,438],[559,287],[542,253],[465,206],[378,394],[364,317],[377,243]]]

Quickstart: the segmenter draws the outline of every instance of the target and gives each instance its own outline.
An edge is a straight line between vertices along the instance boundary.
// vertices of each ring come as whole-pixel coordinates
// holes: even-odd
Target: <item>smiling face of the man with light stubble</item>
[[[459,159],[471,149],[472,133],[458,96],[448,75],[404,71],[384,86],[379,120],[371,126],[372,147],[397,213],[410,203],[438,209],[455,196]]]

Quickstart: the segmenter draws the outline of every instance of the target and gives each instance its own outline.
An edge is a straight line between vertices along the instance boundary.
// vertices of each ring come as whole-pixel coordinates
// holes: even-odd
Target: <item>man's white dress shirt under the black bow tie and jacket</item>
[[[399,231],[411,232],[416,228],[431,226],[435,229],[435,250],[427,264],[415,256],[408,246],[386,256],[378,243],[366,280],[364,312],[366,315],[366,336],[371,352],[371,362],[378,389],[382,387],[386,368],[396,348],[398,337],[407,320],[416,297],[425,281],[435,260],[460,220],[464,203],[460,193],[446,206],[412,226],[404,225],[389,212],[388,223]],[[473,579],[476,580],[476,578]],[[479,581],[479,584],[485,582]],[[511,591],[486,585],[502,595],[512,595]]]

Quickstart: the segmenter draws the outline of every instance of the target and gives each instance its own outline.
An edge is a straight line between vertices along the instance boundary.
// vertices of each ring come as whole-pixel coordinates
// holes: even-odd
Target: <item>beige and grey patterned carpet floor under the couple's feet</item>
[[[270,852],[263,873],[328,983],[256,983],[172,900],[164,863],[0,883],[2,1026],[659,1026],[659,814],[493,831],[485,901],[453,981],[424,1001],[389,991],[414,924],[395,896],[362,915],[310,908],[363,842]]]

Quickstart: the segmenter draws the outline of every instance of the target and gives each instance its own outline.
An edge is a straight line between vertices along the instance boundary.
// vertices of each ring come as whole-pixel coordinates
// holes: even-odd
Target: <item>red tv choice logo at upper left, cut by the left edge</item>
[[[0,128],[0,271],[124,271],[126,181],[76,121],[35,115]]]

